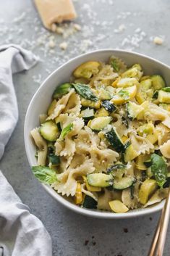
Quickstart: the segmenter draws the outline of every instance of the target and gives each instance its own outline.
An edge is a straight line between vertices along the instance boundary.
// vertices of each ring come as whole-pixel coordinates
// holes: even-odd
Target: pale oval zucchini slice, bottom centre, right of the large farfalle
[[[113,176],[105,173],[92,173],[87,176],[87,181],[90,186],[104,188],[113,185]]]

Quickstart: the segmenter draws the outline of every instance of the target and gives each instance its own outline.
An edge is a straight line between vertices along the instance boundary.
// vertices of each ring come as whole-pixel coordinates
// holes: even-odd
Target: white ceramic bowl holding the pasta
[[[124,60],[124,62],[130,66],[135,63],[140,63],[143,66],[143,70],[145,75],[152,74],[160,74],[166,80],[167,84],[170,84],[170,67],[163,64],[162,62],[158,62],[156,59],[152,59],[150,57],[146,57],[143,54],[137,54],[135,52],[123,51],[123,50],[114,50],[114,49],[101,49],[98,51],[93,51],[88,54],[83,54],[75,59],[69,60],[69,62],[65,63],[58,69],[56,69],[51,75],[44,80],[41,84],[38,91],[36,91],[33,99],[30,102],[30,105],[27,109],[27,114],[25,116],[25,149],[27,153],[27,158],[30,163],[30,166],[36,165],[35,159],[35,145],[33,144],[33,140],[30,138],[30,131],[39,125],[39,115],[42,113],[46,113],[48,105],[51,102],[51,95],[53,94],[54,89],[57,85],[67,82],[72,75],[72,71],[80,65],[82,62],[87,62],[89,60],[98,60],[101,62],[108,61],[109,57],[114,54],[117,57],[120,57]],[[161,210],[163,207],[163,203],[158,203],[157,205],[153,205],[153,207],[149,207],[146,209],[132,210],[126,213],[114,213],[114,212],[105,212],[98,210],[88,210],[77,205],[72,204],[71,202],[61,197],[60,194],[57,194],[56,191],[51,189],[50,186],[42,184],[43,188],[46,189],[48,194],[51,194],[54,199],[60,202],[62,205],[67,208],[74,210],[75,212],[92,216],[95,218],[131,218],[140,215],[150,214],[152,212],[157,212]]]

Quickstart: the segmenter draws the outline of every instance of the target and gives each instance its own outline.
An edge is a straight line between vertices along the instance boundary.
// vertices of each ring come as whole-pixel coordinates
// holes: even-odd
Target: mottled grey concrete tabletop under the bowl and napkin
[[[64,39],[54,36],[56,47],[45,53],[43,47],[48,43],[49,34],[42,30],[32,1],[0,1],[0,44],[22,44],[42,59],[29,72],[14,75],[20,119],[7,144],[0,169],[22,201],[29,205],[31,212],[43,221],[53,240],[54,256],[144,256],[147,255],[159,213],[129,220],[99,220],[65,209],[46,194],[30,172],[25,155],[23,126],[27,106],[41,80],[62,62],[83,51],[131,48],[170,65],[170,3],[168,0],[86,0],[85,3],[78,0],[75,7],[79,15],[77,23],[82,25],[82,32],[66,39],[69,43],[67,51],[59,49],[59,43]],[[20,15],[23,17],[17,21],[16,17]],[[96,22],[98,20],[100,24]],[[116,33],[115,29],[121,24],[125,26],[124,31]],[[137,28],[138,31],[141,29],[140,32],[137,32]],[[141,34],[141,31],[144,33]],[[135,36],[137,33],[140,33],[141,41],[138,40],[139,36]],[[43,44],[37,45],[37,38],[43,34],[47,38]],[[156,46],[150,37],[159,35],[164,37],[164,42]],[[138,39],[132,39],[134,37]],[[130,43],[124,45],[124,38],[131,38]],[[132,43],[135,40],[138,47]],[[164,256],[169,256],[169,239],[170,230]]]

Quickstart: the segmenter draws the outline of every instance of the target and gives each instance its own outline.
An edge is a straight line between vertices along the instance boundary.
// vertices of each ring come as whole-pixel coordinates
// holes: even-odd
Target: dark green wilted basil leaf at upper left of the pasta
[[[77,94],[80,94],[85,99],[90,99],[93,102],[97,102],[98,98],[93,94],[90,86],[81,83],[72,83],[72,86],[77,91]]]

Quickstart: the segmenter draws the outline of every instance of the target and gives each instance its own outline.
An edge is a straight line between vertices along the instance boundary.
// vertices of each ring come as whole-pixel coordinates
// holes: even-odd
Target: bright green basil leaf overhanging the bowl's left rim
[[[55,170],[51,170],[46,166],[32,166],[32,171],[35,177],[42,183],[51,185],[57,181]]]

